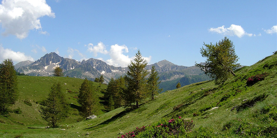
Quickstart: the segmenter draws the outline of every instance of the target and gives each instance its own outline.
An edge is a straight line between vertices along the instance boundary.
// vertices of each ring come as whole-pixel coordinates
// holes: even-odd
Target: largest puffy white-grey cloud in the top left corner
[[[15,35],[19,39],[28,36],[29,30],[40,30],[42,26],[38,18],[50,16],[55,18],[55,13],[45,0],[3,0],[0,5],[0,23],[5,32],[2,35]]]

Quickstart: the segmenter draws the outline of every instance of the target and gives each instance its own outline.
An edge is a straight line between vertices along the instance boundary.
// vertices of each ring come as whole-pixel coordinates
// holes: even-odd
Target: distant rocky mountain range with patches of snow
[[[164,91],[175,89],[177,82],[180,82],[182,86],[189,85],[200,81],[210,80],[208,76],[204,74],[195,66],[178,66],[167,60],[147,65],[146,70],[150,71],[151,66],[155,66],[159,72],[160,88]],[[100,75],[104,76],[105,83],[113,78],[118,78],[125,75],[127,67],[115,67],[106,64],[106,62],[98,59],[90,58],[83,60],[82,62],[74,59],[63,58],[55,52],[48,53],[35,62],[23,61],[14,65],[15,69],[19,73],[24,73],[29,76],[53,76],[53,71],[56,67],[63,69],[64,76],[74,78],[87,78],[94,80],[94,78]]]

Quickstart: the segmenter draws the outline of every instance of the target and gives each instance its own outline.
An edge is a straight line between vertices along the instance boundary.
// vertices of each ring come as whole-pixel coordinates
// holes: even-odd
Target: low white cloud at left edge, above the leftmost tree
[[[5,49],[0,45],[0,61],[3,61],[7,58],[11,58],[14,63],[18,63],[25,60],[35,61],[33,57],[25,55],[22,52],[15,52],[12,49]]]

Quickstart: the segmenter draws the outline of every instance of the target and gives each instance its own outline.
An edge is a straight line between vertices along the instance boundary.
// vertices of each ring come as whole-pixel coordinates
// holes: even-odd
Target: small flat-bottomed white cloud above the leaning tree
[[[225,26],[221,26],[218,28],[210,28],[209,29],[210,32],[216,32],[219,34],[224,34],[224,35],[236,35],[237,37],[242,37],[244,35],[247,35],[249,37],[252,37],[253,34],[249,34],[247,32],[244,31],[244,29],[242,28],[242,26],[240,25],[235,25],[235,24],[231,24],[231,26],[229,28],[225,28]]]

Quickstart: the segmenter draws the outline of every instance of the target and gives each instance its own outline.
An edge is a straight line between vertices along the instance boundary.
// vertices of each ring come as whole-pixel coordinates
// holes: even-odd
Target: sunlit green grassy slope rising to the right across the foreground
[[[161,118],[181,116],[189,121],[193,120],[195,124],[193,131],[187,133],[193,134],[191,137],[275,137],[277,54],[266,57],[252,66],[240,68],[235,73],[237,76],[230,78],[222,87],[215,86],[213,81],[194,83],[156,95],[153,101],[145,100],[139,109],[128,111],[117,108],[99,115],[96,119],[63,124],[56,129],[29,129],[28,126],[16,123],[0,123],[0,135],[119,137],[121,131],[127,133],[136,127],[158,122]],[[257,74],[265,74],[266,77],[257,83],[246,85],[247,79]],[[211,110],[214,107],[218,108]],[[4,117],[1,116],[0,119],[2,118]]]

